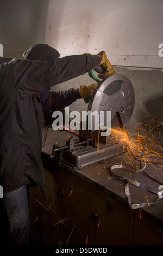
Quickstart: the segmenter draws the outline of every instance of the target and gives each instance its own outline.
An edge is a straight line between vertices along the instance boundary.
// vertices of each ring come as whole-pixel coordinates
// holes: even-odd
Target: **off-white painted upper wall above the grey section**
[[[112,65],[163,68],[162,10],[162,0],[0,0],[0,43],[4,57],[43,42],[61,57],[105,50]]]

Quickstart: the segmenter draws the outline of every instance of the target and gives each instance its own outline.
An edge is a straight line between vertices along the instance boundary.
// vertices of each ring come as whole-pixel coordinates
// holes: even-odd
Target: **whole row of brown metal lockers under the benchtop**
[[[30,191],[31,237],[40,245],[160,245],[162,226],[76,173],[44,164]]]

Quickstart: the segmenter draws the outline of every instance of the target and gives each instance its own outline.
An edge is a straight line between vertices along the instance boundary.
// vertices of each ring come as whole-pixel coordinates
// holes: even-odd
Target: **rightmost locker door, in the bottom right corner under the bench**
[[[134,245],[163,245],[163,227],[136,210]]]

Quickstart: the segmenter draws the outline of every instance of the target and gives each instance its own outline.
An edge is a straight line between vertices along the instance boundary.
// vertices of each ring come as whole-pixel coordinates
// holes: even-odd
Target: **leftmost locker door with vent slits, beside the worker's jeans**
[[[38,245],[57,244],[57,172],[44,168],[45,185],[30,189],[30,235]]]

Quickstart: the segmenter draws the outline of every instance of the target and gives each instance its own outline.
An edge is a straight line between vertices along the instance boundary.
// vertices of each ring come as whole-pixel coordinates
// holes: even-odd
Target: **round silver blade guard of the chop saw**
[[[126,76],[114,74],[104,78],[93,90],[87,111],[97,111],[99,115],[101,111],[110,111],[111,127],[120,125],[120,122],[126,126],[133,113],[134,103],[133,84]],[[96,129],[92,126],[93,130]]]

